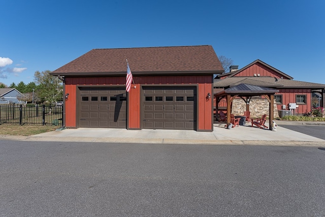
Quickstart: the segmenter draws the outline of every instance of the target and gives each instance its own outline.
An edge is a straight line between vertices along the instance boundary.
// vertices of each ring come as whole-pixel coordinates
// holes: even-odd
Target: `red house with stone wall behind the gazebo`
[[[224,89],[238,84],[250,84],[261,87],[269,87],[279,90],[274,95],[274,117],[285,114],[303,115],[309,112],[313,106],[323,107],[325,101],[325,84],[295,81],[294,78],[275,69],[274,67],[257,59],[242,69],[231,66],[229,73],[217,75],[214,79],[214,95]],[[318,96],[318,104],[313,104],[313,96]],[[260,117],[267,113],[267,103],[263,97],[253,97],[249,104],[251,116]],[[220,100],[218,106],[214,100],[214,107],[223,110],[226,107],[224,100]],[[237,115],[244,114],[245,102],[242,99],[233,101],[232,112]],[[284,111],[284,112],[283,112]]]

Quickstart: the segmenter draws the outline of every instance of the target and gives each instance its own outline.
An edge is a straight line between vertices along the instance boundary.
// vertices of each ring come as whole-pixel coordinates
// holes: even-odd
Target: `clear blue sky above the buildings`
[[[212,45],[325,84],[325,1],[0,0],[0,82],[34,81],[94,48]],[[125,67],[126,70],[126,67]]]

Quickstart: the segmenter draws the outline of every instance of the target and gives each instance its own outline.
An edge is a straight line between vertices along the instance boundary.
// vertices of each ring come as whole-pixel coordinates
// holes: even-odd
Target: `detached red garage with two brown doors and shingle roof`
[[[51,75],[63,81],[68,128],[212,131],[213,75],[222,72],[205,45],[93,49]]]

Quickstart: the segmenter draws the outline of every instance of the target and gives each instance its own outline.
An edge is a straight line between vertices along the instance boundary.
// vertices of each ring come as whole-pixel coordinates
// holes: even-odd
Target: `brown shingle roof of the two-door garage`
[[[126,61],[133,74],[172,72],[221,73],[223,68],[212,46],[144,47],[93,49],[52,75],[117,75],[126,73]]]

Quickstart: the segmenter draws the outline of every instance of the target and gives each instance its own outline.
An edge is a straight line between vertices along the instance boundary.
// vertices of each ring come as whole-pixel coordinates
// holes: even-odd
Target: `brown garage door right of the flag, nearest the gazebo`
[[[143,128],[196,130],[196,87],[143,87]]]

